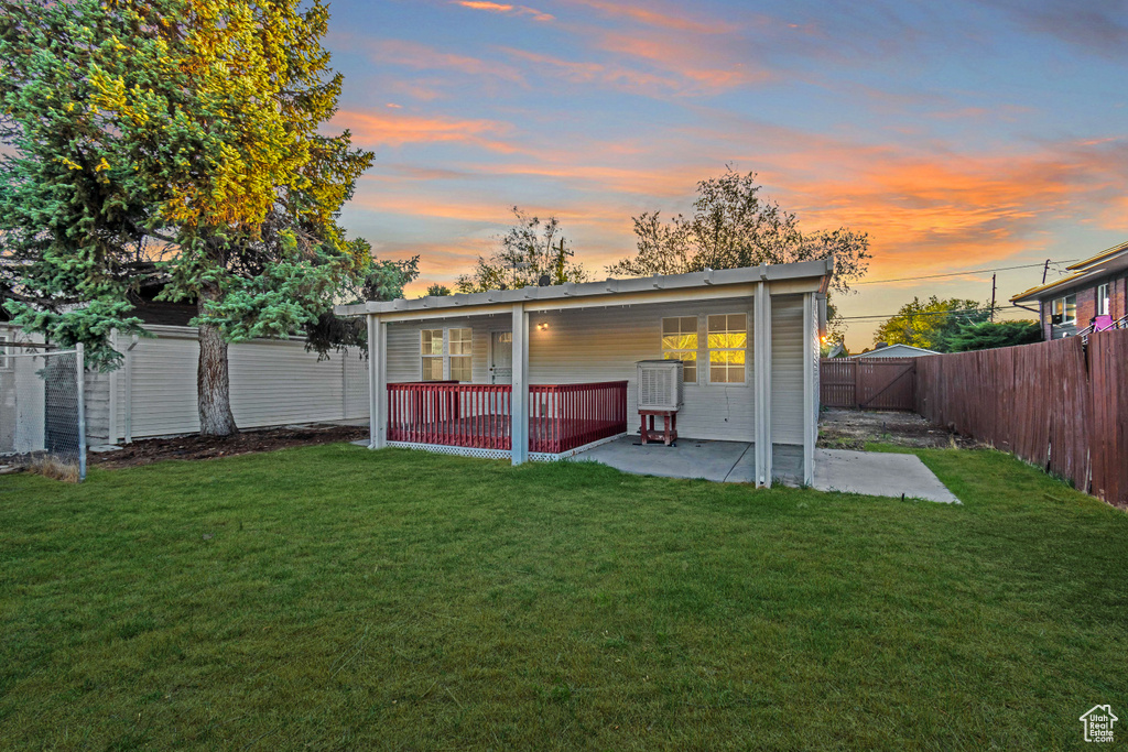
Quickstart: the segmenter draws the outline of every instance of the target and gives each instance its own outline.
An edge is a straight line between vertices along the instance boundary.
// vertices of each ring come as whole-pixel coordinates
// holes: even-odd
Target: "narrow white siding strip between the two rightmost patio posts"
[[[772,443],[803,444],[803,297],[772,298]]]

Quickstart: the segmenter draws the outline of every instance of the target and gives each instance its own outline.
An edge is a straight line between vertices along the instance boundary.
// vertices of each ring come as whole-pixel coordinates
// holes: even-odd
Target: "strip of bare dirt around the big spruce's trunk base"
[[[129,468],[161,460],[209,460],[288,446],[332,444],[368,437],[368,426],[311,425],[247,431],[233,436],[146,439],[109,452],[89,452],[87,462],[103,468]]]

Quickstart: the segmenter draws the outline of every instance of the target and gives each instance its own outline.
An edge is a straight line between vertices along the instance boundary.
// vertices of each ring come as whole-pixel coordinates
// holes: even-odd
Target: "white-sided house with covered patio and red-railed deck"
[[[553,459],[634,432],[636,363],[680,360],[682,436],[795,448],[811,481],[826,260],[338,306],[368,322],[370,446]]]

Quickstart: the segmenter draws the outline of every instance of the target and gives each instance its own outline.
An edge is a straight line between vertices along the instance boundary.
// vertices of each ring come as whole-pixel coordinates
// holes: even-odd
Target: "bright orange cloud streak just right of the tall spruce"
[[[398,112],[358,113],[338,112],[331,125],[349,129],[353,141],[361,147],[402,147],[408,143],[466,143],[491,151],[513,153],[519,149],[500,136],[512,129],[506,123],[485,120],[451,117],[416,117]]]

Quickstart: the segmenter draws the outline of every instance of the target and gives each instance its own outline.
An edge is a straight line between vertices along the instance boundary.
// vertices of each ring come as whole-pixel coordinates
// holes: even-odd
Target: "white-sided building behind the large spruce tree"
[[[200,431],[200,347],[196,329],[187,326],[194,310],[141,302],[136,315],[156,336],[113,335],[115,350],[123,354],[122,366],[86,374],[90,446]],[[42,343],[43,338],[0,322],[0,345],[5,342]],[[8,348],[23,352],[10,344]],[[230,345],[228,353],[231,412],[240,428],[368,417],[368,362],[355,348],[318,361],[300,338],[256,339]],[[42,368],[42,359],[11,357],[0,351],[0,453],[42,449],[37,445],[43,442],[42,430],[36,431],[26,417],[44,410],[43,388],[35,377]],[[28,406],[28,401],[36,404]],[[21,421],[12,417],[17,408],[25,416]],[[8,424],[21,424],[16,428],[24,437],[17,441],[16,428],[5,430]]]

